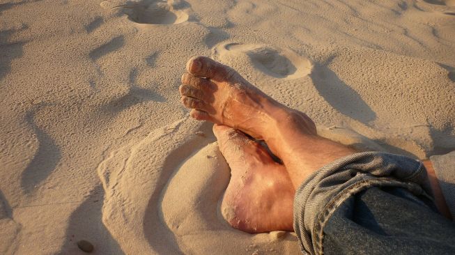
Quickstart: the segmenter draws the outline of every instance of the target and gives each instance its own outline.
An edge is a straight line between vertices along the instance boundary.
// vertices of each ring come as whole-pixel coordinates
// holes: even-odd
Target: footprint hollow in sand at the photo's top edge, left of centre
[[[128,15],[132,22],[139,24],[167,25],[179,24],[188,20],[187,13],[183,10],[176,10],[171,4],[167,3],[167,1],[143,0],[128,2],[121,6],[110,5],[110,1],[103,1],[100,3],[100,6],[105,8],[119,8],[122,13]]]

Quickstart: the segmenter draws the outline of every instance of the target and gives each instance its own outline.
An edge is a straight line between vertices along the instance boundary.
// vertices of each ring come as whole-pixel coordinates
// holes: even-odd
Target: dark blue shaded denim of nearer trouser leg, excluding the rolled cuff
[[[399,187],[351,196],[325,225],[324,254],[455,254],[455,224]]]

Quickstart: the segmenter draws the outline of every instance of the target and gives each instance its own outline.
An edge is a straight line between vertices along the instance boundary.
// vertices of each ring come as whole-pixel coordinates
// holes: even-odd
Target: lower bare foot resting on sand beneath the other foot
[[[229,223],[249,233],[293,231],[295,190],[284,166],[238,130],[214,125],[213,132],[231,167],[222,201]]]

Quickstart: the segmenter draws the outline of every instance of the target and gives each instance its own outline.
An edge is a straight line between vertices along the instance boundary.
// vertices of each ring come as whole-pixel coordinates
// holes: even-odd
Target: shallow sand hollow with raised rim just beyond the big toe
[[[280,79],[297,79],[311,73],[309,59],[299,56],[290,49],[277,49],[266,45],[243,45],[227,43],[217,47],[221,58],[247,56],[254,68],[266,75]]]

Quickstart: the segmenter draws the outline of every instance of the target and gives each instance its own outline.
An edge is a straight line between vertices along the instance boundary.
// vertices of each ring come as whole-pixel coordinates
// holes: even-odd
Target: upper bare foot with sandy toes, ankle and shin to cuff
[[[187,62],[180,94],[193,118],[228,125],[263,139],[298,187],[311,173],[355,150],[318,137],[304,113],[286,107],[229,66],[205,56]]]

